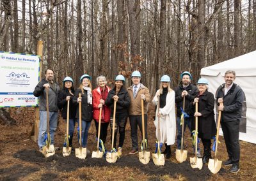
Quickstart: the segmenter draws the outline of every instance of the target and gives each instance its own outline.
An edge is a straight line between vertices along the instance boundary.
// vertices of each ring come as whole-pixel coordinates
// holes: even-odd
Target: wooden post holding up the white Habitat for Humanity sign
[[[42,78],[42,61],[43,61],[43,47],[44,47],[43,41],[37,42],[37,55],[40,55],[40,73],[39,73],[39,81],[41,81]],[[35,107],[35,122],[32,126],[31,130],[31,139],[37,143],[38,139],[38,127],[39,127],[40,117],[39,117],[39,107]]]

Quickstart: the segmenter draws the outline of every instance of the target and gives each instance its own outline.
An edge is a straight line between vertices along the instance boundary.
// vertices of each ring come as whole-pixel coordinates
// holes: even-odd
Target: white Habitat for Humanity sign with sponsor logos
[[[40,56],[0,52],[0,107],[38,106]]]

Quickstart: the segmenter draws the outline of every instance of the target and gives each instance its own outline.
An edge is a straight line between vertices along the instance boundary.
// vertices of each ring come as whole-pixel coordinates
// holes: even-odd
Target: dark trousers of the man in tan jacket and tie
[[[131,138],[132,138],[132,150],[138,151],[138,126],[140,127],[140,133],[142,138],[142,117],[141,115],[130,115],[130,126],[131,126]],[[148,117],[144,114],[144,127],[145,127],[145,139],[148,140],[147,134]]]

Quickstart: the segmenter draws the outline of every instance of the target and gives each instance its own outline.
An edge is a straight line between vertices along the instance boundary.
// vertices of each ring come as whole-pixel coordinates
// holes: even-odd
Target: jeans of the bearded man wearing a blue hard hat
[[[178,129],[177,148],[180,149],[180,147],[181,147],[181,135],[182,135],[182,125],[180,126],[180,117],[177,117],[176,121],[177,121],[177,129]],[[188,126],[188,128],[189,128],[190,134],[193,131],[192,128],[191,128],[191,121],[193,121],[193,117],[192,118],[190,118],[190,117],[185,118],[185,120],[184,120],[184,133],[186,131],[186,126]],[[183,144],[184,144],[184,140],[183,140]],[[194,150],[194,152],[195,152],[195,150]],[[200,153],[199,143],[197,145],[197,152]]]

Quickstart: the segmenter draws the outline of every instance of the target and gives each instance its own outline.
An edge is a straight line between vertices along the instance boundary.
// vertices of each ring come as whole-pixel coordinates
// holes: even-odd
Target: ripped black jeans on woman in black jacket
[[[118,147],[123,147],[124,138],[125,138],[125,126],[127,123],[127,116],[124,115],[116,115],[115,120],[115,134],[114,134],[114,148],[116,148],[116,135],[119,130],[119,145]],[[113,134],[113,117],[110,118],[110,126],[111,126],[111,143],[112,143],[112,134]]]

